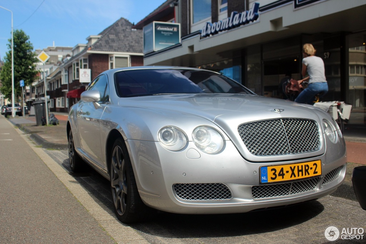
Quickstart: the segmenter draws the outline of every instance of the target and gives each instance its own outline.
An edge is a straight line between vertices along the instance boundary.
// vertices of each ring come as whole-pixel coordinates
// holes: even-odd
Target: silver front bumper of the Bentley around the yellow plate
[[[336,158],[328,152],[310,159],[296,155],[294,160],[286,162],[249,162],[231,141],[226,141],[225,149],[217,155],[198,152],[191,143],[179,152],[168,151],[155,142],[129,141],[128,144],[143,202],[167,212],[237,213],[305,202],[335,191],[346,173],[345,148],[343,153],[338,151]],[[261,166],[311,160],[321,160],[320,177],[266,185],[259,182]],[[220,197],[202,197],[213,195],[212,187],[217,188],[212,192]],[[288,188],[296,191],[287,191]]]

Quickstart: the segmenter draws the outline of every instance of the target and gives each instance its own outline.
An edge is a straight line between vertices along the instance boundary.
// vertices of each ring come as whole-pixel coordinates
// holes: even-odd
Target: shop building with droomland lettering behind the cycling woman
[[[352,104],[349,124],[365,126],[365,11],[360,0],[168,0],[134,28],[180,23],[179,43],[145,52],[144,65],[214,70],[277,98],[285,74],[302,78],[302,45],[311,43],[325,63],[324,100]]]

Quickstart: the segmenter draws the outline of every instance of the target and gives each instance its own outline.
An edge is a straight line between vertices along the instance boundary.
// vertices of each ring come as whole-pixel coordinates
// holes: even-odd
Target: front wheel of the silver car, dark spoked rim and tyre
[[[146,221],[156,210],[147,207],[139,195],[127,147],[118,138],[112,147],[109,176],[115,214],[123,223]]]

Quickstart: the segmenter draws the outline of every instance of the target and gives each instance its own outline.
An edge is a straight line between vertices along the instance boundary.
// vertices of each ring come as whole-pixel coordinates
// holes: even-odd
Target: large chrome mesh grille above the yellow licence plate
[[[301,154],[320,149],[317,123],[308,119],[273,119],[238,127],[244,145],[255,156]]]

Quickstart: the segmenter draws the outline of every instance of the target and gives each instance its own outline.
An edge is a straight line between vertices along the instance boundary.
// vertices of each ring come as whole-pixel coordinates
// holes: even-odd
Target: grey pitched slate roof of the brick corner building
[[[120,18],[107,27],[101,37],[90,47],[93,51],[104,52],[143,52],[142,30],[132,29],[132,23]]]

